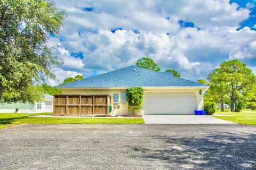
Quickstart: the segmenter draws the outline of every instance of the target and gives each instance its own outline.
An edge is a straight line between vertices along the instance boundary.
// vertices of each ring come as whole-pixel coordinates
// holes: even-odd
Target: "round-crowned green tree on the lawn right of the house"
[[[236,102],[246,100],[254,88],[256,76],[245,63],[230,60],[221,63],[220,67],[209,75],[208,80],[212,90],[217,92],[222,100],[230,96],[231,111],[235,112]]]

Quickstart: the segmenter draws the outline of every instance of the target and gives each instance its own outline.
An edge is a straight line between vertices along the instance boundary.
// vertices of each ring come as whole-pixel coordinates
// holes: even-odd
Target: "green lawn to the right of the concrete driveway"
[[[233,115],[233,116],[214,116],[225,121],[235,122],[238,124],[256,125],[256,113],[243,112],[215,112],[217,115]]]

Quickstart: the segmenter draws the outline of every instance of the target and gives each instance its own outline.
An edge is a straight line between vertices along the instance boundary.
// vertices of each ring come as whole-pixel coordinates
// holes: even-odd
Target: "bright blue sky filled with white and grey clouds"
[[[53,68],[57,80],[47,80],[51,86],[77,74],[86,78],[135,65],[142,57],[193,81],[206,80],[232,59],[256,73],[256,0],[55,3],[67,18],[49,41],[63,60]]]

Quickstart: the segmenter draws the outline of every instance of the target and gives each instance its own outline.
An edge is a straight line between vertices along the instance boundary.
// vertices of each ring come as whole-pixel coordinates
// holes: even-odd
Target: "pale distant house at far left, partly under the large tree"
[[[11,103],[0,105],[0,113],[14,113],[18,108],[18,113],[44,113],[53,112],[53,96],[45,94],[45,97],[40,102],[34,104],[29,103]]]

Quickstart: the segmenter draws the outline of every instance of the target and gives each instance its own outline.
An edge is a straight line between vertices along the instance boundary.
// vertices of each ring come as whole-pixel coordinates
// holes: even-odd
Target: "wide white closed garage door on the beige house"
[[[196,92],[146,92],[145,114],[193,114],[196,109]]]

